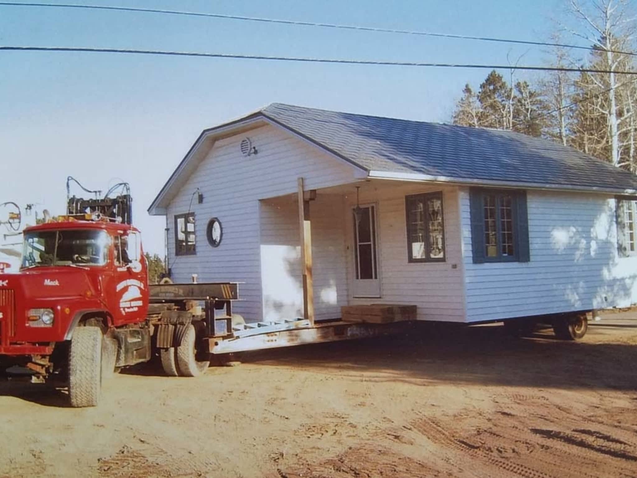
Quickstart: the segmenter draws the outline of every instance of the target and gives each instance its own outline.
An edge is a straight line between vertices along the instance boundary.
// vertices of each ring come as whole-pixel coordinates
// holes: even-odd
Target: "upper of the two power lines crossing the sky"
[[[455,38],[457,40],[478,40],[478,41],[492,41],[497,43],[513,43],[517,45],[534,45],[540,47],[561,47],[561,48],[575,48],[578,50],[599,51],[594,47],[583,47],[582,45],[569,45],[567,43],[551,43],[545,41],[531,41],[531,40],[514,40],[511,38],[493,38],[488,36],[471,36],[471,35],[459,35],[452,33],[434,33],[427,31],[413,31],[402,30],[382,27],[366,27],[364,25],[342,25],[331,24],[322,22],[304,22],[302,20],[282,20],[280,18],[260,18],[260,17],[244,17],[241,15],[224,15],[222,13],[204,13],[198,11],[180,11],[180,10],[161,10],[156,8],[134,8],[127,6],[109,6],[109,5],[80,5],[71,3],[20,3],[20,2],[4,2],[0,1],[0,5],[4,6],[29,6],[29,7],[53,7],[53,8],[82,8],[86,10],[114,10],[114,11],[133,11],[140,13],[159,13],[162,15],[183,15],[189,17],[210,17],[210,18],[224,18],[225,20],[244,20],[248,22],[262,22],[273,23],[283,25],[297,25],[306,27],[323,27],[334,28],[343,30],[356,30],[356,31],[368,31],[375,33],[396,33],[396,34],[408,34],[419,36],[432,36],[437,38]],[[624,52],[622,50],[604,50],[621,55],[635,56],[637,53]]]

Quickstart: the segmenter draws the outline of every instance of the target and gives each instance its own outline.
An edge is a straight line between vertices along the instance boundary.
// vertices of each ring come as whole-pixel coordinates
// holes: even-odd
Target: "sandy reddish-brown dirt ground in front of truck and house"
[[[637,314],[582,342],[501,326],[152,368],[94,409],[0,384],[0,476],[636,477]]]

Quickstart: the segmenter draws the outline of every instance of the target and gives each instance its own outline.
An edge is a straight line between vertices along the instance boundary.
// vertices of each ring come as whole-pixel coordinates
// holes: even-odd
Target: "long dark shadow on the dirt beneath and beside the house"
[[[613,327],[617,331],[609,335]],[[629,365],[637,363],[637,340],[634,344],[598,341],[620,339],[626,328],[637,331],[637,321],[591,324],[582,342],[566,342],[556,340],[550,329],[513,338],[498,324],[464,327],[421,322],[401,337],[250,352],[237,359],[320,368],[327,374],[359,373],[365,380],[381,382],[637,390],[637,374]]]

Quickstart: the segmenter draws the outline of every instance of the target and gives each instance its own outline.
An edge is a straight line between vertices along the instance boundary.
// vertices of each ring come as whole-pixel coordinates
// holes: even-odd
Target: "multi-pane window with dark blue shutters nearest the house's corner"
[[[527,262],[526,192],[471,188],[473,262]]]

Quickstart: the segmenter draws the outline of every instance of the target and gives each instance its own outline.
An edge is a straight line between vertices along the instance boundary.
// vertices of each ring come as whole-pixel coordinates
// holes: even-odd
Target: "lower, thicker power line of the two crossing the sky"
[[[181,57],[207,57],[225,58],[240,60],[264,60],[264,61],[289,61],[305,63],[335,63],[353,65],[376,65],[376,66],[417,66],[430,68],[479,68],[479,69],[515,69],[527,71],[569,71],[571,73],[611,73],[607,69],[596,68],[563,68],[558,66],[519,66],[519,65],[484,65],[484,64],[452,64],[452,63],[426,63],[410,61],[376,61],[376,60],[352,60],[336,58],[310,58],[310,57],[279,57],[268,55],[240,55],[226,53],[205,53],[205,52],[173,52],[166,50],[130,50],[125,48],[83,48],[83,47],[18,47],[4,46],[0,51],[18,52],[85,52],[85,53],[118,53],[134,55],[162,55]],[[637,71],[617,70],[616,75],[637,75]]]

